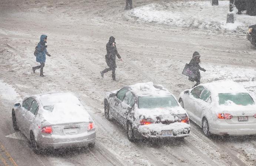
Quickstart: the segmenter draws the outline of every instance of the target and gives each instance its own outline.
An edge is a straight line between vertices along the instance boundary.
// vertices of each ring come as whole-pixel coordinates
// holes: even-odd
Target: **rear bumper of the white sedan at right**
[[[255,123],[229,124],[225,119],[208,121],[210,132],[216,135],[256,135]]]

